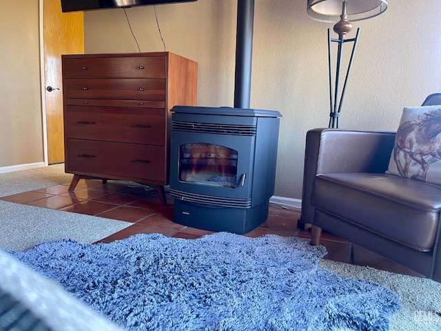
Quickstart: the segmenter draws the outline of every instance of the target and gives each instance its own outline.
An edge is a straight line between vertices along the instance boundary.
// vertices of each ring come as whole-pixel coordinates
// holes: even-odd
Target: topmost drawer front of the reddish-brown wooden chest
[[[95,57],[63,59],[66,78],[163,78],[165,57]]]

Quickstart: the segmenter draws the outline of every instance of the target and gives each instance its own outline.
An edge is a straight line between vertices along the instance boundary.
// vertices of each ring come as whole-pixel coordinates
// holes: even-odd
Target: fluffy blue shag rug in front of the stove
[[[318,268],[326,249],[296,237],[137,234],[10,254],[125,330],[389,330],[400,309],[386,288]]]

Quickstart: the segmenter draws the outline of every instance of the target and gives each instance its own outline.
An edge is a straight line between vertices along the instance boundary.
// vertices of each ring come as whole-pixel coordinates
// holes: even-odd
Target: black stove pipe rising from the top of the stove
[[[249,108],[253,56],[254,0],[238,0],[234,108]]]

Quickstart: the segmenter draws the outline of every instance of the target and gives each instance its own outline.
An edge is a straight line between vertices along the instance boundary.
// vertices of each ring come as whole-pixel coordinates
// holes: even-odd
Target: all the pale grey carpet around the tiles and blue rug
[[[48,168],[0,174],[0,196],[69,182],[72,175],[63,171],[63,165],[51,165]],[[107,235],[101,231],[108,230],[110,234],[118,231],[118,227],[122,229],[130,225],[1,201],[0,208],[0,248],[6,250],[25,250],[35,243],[64,237],[91,243]],[[25,221],[32,223],[26,225]],[[321,260],[319,265],[342,276],[374,281],[395,292],[402,303],[402,310],[392,317],[391,331],[441,331],[441,283],[328,260]]]

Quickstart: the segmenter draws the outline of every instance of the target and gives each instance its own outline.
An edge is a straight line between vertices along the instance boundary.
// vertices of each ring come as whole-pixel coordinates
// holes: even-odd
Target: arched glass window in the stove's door
[[[186,143],[179,149],[179,180],[236,188],[238,152],[213,143]]]

